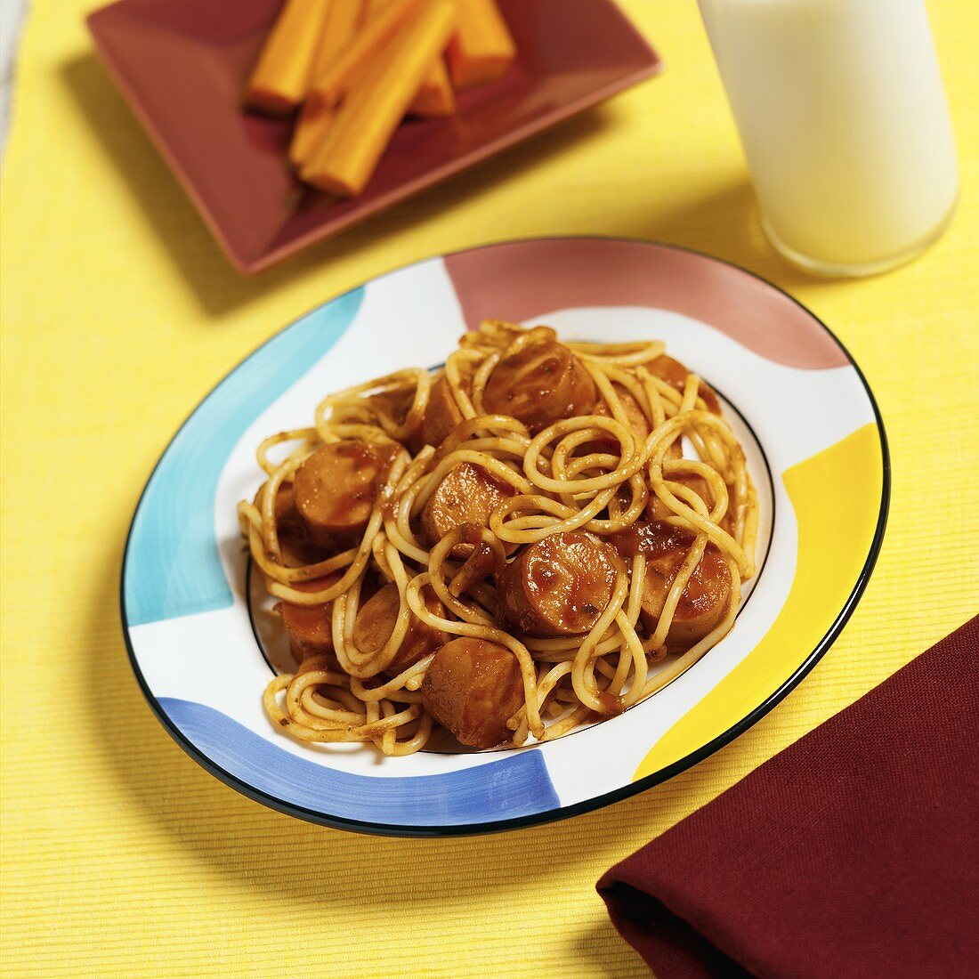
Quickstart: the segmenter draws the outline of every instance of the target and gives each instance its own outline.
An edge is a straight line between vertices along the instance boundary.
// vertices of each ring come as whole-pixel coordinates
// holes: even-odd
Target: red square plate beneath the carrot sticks
[[[499,0],[519,48],[455,117],[403,124],[362,197],[286,165],[291,123],[241,110],[282,0],[120,0],[88,26],[119,88],[235,266],[257,272],[660,69],[612,0]]]

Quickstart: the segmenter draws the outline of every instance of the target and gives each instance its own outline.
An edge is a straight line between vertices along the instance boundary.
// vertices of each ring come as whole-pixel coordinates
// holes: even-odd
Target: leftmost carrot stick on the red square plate
[[[245,86],[245,104],[274,116],[293,112],[309,90],[330,0],[287,0]]]

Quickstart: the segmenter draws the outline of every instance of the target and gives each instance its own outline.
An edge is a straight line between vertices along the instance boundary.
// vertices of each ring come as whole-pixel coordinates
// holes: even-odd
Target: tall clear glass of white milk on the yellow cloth
[[[778,251],[870,275],[945,230],[958,169],[924,0],[699,0]]]

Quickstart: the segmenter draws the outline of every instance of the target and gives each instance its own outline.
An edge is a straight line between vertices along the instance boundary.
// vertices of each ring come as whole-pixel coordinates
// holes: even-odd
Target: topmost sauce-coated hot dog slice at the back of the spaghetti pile
[[[503,357],[489,375],[483,407],[511,415],[531,433],[562,418],[590,414],[597,392],[578,357],[553,340],[530,343]]]

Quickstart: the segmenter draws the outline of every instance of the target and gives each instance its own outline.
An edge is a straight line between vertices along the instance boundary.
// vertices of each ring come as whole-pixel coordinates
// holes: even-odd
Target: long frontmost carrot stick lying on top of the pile
[[[434,0],[397,31],[350,90],[303,180],[341,197],[361,193],[454,25],[450,0]]]

